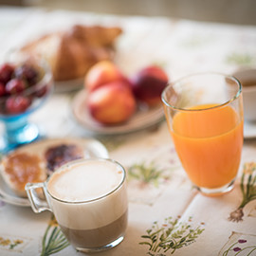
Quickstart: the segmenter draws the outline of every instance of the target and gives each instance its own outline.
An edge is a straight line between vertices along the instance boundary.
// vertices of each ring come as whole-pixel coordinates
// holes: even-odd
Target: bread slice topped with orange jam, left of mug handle
[[[9,188],[19,196],[26,197],[25,185],[28,182],[46,180],[46,168],[38,155],[14,153],[2,161],[2,174]]]

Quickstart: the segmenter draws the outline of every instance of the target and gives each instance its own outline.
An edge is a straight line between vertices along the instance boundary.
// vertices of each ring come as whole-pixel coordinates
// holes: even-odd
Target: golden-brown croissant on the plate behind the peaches
[[[55,81],[82,78],[87,70],[102,60],[112,60],[119,27],[75,25],[69,30],[53,32],[28,43],[22,52],[46,59]]]

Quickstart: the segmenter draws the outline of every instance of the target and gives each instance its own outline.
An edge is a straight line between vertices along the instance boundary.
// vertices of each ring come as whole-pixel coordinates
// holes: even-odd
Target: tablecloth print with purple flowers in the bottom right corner
[[[229,241],[219,252],[219,256],[256,255],[256,235],[232,232]]]

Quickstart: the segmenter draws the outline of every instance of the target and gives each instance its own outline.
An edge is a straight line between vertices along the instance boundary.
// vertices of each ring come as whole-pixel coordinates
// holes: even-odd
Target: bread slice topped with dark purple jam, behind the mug
[[[83,157],[82,148],[75,144],[60,144],[46,150],[46,167],[53,172],[64,163]]]

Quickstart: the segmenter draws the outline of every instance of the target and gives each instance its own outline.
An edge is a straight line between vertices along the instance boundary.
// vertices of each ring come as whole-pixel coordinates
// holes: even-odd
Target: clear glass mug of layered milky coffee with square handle
[[[28,183],[32,210],[50,210],[69,243],[83,252],[116,247],[128,218],[126,174],[111,159],[79,159],[64,164],[44,183]],[[41,199],[43,191],[46,201]]]

